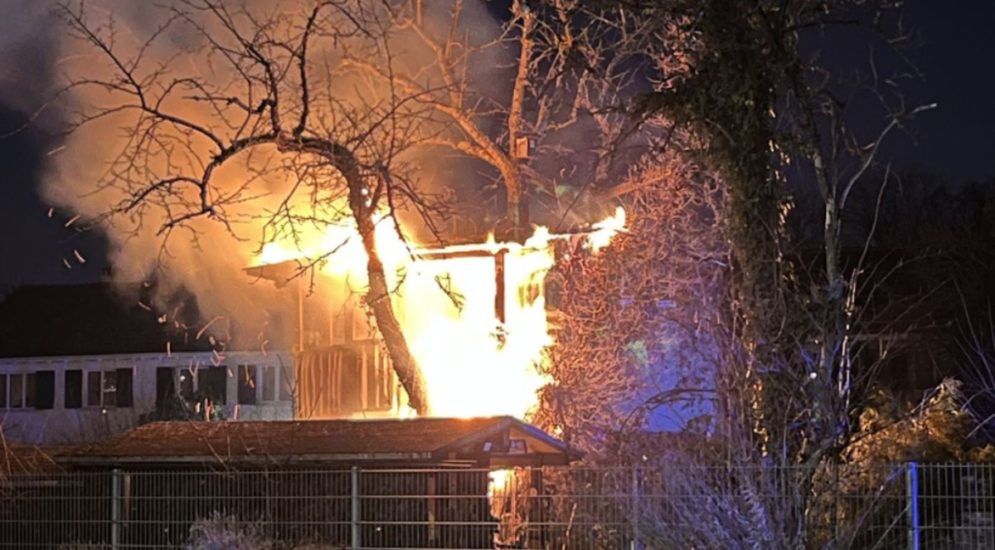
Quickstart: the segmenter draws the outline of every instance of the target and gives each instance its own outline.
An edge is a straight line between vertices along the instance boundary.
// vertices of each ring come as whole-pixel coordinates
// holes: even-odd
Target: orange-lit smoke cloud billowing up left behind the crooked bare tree
[[[81,78],[110,82],[118,78],[114,76],[116,68],[106,56],[92,45],[85,44],[79,36],[67,33],[65,24],[53,15],[54,3],[15,1],[23,9],[10,10],[14,17],[4,21],[5,32],[0,32],[5,45],[2,48],[5,53],[3,63],[7,69],[4,74],[25,74],[30,70],[29,67],[18,66],[18,60],[28,58],[19,55],[19,51],[33,51],[37,52],[34,57],[51,59],[49,66],[34,68],[44,71],[47,77],[32,80],[38,89],[25,97],[51,97],[67,81]],[[430,26],[445,28],[449,3],[426,4],[430,7],[426,8],[424,16]],[[145,40],[158,35],[150,47],[141,52],[141,62],[136,71],[136,74],[149,78],[153,71],[159,71],[156,78],[160,84],[157,86],[168,85],[174,79],[193,77],[215,83],[231,81],[232,93],[235,93],[238,75],[226,66],[223,54],[206,44],[203,36],[195,32],[190,24],[178,22],[162,30],[162,25],[171,16],[170,9],[179,5],[180,2],[166,2],[153,7],[144,2],[99,0],[87,2],[85,11],[87,21],[98,26],[104,33],[102,36],[113,40],[115,51],[122,53],[123,59],[135,59]],[[312,5],[300,0],[257,0],[238,6],[278,25],[287,22],[299,25],[303,21],[300,14],[306,14]],[[75,4],[70,6],[73,10],[77,9]],[[245,17],[236,19],[248,25]],[[499,36],[500,23],[487,13],[482,3],[467,2],[462,21],[467,26],[464,29],[466,36],[473,36],[473,40],[480,43]],[[220,28],[208,27],[208,31],[209,35],[223,35]],[[424,68],[430,62],[430,52],[403,36],[392,40],[391,49],[404,70],[410,74],[424,74]],[[338,55],[339,52],[329,48],[315,59],[334,65],[339,60]],[[505,65],[501,63],[504,55],[506,52],[500,51],[486,54],[472,68],[473,78],[485,79],[489,71],[503,70],[500,67]],[[336,101],[361,105],[387,93],[382,83],[368,78],[336,74],[337,78],[331,80],[322,78],[321,75],[327,75],[321,71],[316,70],[314,74],[319,76],[313,77],[318,80],[311,86],[322,100],[334,96]],[[292,84],[295,78],[288,77],[287,82]],[[161,91],[155,86],[151,89]],[[79,117],[87,116],[86,113],[92,112],[93,107],[99,109],[114,105],[120,97],[119,91],[106,86],[76,88],[70,94],[58,96],[58,101],[46,113],[63,123],[72,123]],[[17,100],[17,97],[11,100]],[[37,108],[28,100],[18,106],[25,111]],[[212,112],[206,103],[181,99],[170,100],[163,108],[187,118],[207,121],[224,136],[233,135],[236,131],[234,119],[230,116],[234,111]],[[352,112],[357,111],[353,109]],[[296,113],[285,114],[291,116]],[[336,114],[341,115],[342,112],[314,113],[312,116],[333,117]],[[337,176],[321,167],[294,162],[300,159],[289,159],[275,148],[260,149],[240,158],[237,163],[226,165],[214,175],[215,200],[235,192],[244,199],[228,200],[224,204],[223,214],[227,223],[200,218],[164,233],[162,228],[168,219],[168,210],[182,210],[195,201],[194,190],[177,186],[173,191],[174,197],[156,197],[155,207],[138,207],[108,217],[108,211],[121,206],[129,199],[129,193],[135,190],[135,187],[124,184],[123,180],[138,176],[154,181],[153,178],[170,173],[171,167],[162,153],[165,148],[171,147],[175,151],[188,147],[189,151],[174,153],[171,158],[186,157],[193,165],[203,163],[210,158],[208,151],[211,144],[189,137],[182,131],[174,131],[163,135],[172,136],[175,141],[150,145],[152,148],[163,148],[158,151],[158,156],[153,153],[149,157],[119,157],[117,155],[121,151],[128,150],[129,140],[136,139],[136,120],[132,111],[113,112],[69,134],[65,148],[51,157],[51,176],[41,189],[45,199],[79,214],[78,223],[93,224],[107,235],[115,281],[132,283],[154,280],[158,289],[156,305],[161,311],[169,311],[175,306],[171,301],[177,291],[185,289],[196,296],[205,323],[218,317],[225,319],[224,323],[212,323],[210,331],[219,337],[231,337],[231,347],[253,349],[266,341],[270,345],[290,345],[295,314],[294,291],[291,287],[281,289],[271,281],[254,278],[246,273],[245,268],[258,261],[264,242],[272,239],[294,240],[286,225],[265,223],[281,208],[293,210],[294,216],[300,218],[313,218],[310,224],[302,222],[297,227],[304,233],[319,232],[321,225],[329,221],[347,223],[341,211],[343,189],[337,182]],[[330,121],[329,125],[334,125],[334,122]],[[187,140],[186,144],[183,139]],[[411,155],[405,162],[425,173],[469,175],[458,163],[450,164],[435,155]],[[125,174],[129,170],[131,172]],[[289,204],[285,203],[291,189],[302,182],[313,189],[312,193],[297,193]],[[465,181],[455,183],[466,185]],[[438,184],[427,181],[422,185],[431,191],[431,186]],[[332,256],[330,261],[334,262],[335,257]]]

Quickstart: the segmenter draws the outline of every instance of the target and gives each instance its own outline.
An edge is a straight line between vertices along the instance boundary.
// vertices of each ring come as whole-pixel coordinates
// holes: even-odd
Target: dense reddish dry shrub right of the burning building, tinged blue
[[[596,254],[565,251],[547,279],[556,382],[532,418],[609,459],[619,454],[612,440],[641,430],[654,409],[701,400],[713,387],[710,337],[727,271],[722,192],[697,165],[668,153],[621,187],[626,232]]]

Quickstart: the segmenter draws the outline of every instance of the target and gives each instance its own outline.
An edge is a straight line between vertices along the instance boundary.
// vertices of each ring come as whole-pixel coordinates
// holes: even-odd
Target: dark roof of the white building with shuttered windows
[[[207,338],[197,340],[177,327],[191,326],[198,313],[192,298],[171,312],[167,323],[142,299],[141,285],[29,285],[15,288],[0,301],[0,357],[57,357],[173,351],[210,351]]]

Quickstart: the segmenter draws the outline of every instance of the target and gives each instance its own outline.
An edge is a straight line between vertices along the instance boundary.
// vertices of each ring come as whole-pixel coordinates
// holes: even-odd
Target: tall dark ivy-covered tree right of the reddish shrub
[[[651,17],[663,9],[644,7]],[[931,108],[910,104],[901,88],[915,76],[900,55],[907,30],[891,2],[678,1],[668,13],[692,37],[693,61],[685,78],[647,94],[641,108],[691,128],[728,191],[731,306],[746,352],[736,385],[752,388],[740,400],[742,418],[753,419],[767,452],[818,463],[845,443],[852,414],[861,272],[841,264],[843,212],[853,190],[873,178],[885,139]],[[834,66],[822,51],[855,44],[869,57]],[[860,109],[878,113],[880,124],[857,124]],[[798,250],[785,223],[789,173],[795,188],[820,201],[815,271],[791,260]],[[805,182],[813,187],[804,190]],[[785,395],[799,396],[786,417]]]

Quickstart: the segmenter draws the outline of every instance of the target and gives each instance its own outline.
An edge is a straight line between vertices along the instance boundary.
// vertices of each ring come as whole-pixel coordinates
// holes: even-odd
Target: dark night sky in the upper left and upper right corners
[[[5,13],[6,25],[11,21],[21,25],[16,36],[6,33],[0,41],[2,134],[23,123],[30,100],[40,99],[39,90],[55,74],[53,40],[60,29],[50,19],[37,16],[36,4],[0,0],[0,5],[10,8]],[[939,108],[918,119],[909,135],[896,140],[895,167],[934,173],[952,187],[969,180],[995,185],[995,0],[912,0],[907,2],[906,14],[920,43],[911,55],[925,75],[915,94],[937,102]],[[21,283],[99,279],[106,267],[99,235],[66,229],[64,212],[55,212],[50,219],[49,207],[38,196],[48,152],[57,146],[57,138],[41,129],[0,139],[0,295],[4,287]],[[74,261],[69,270],[63,258],[71,259],[74,249],[87,263]]]

